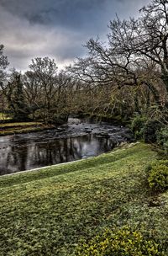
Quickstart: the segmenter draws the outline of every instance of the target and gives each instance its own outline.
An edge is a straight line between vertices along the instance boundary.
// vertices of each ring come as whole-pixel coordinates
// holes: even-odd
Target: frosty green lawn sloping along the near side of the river
[[[0,178],[0,255],[73,255],[80,237],[126,224],[165,240],[168,193],[151,195],[144,171],[156,157],[139,143]]]

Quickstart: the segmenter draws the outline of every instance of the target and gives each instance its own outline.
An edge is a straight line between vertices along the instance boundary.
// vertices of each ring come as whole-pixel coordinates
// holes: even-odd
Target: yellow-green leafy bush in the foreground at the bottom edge
[[[111,231],[93,237],[88,243],[81,240],[76,248],[76,255],[87,256],[160,256],[165,255],[159,243],[145,238],[140,232],[130,227]]]

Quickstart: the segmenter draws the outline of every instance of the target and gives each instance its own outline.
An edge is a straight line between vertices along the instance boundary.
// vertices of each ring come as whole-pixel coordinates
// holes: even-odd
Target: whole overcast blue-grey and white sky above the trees
[[[34,57],[50,56],[58,67],[84,56],[85,42],[103,41],[116,13],[137,17],[150,0],[0,0],[0,44],[10,67],[28,69]]]

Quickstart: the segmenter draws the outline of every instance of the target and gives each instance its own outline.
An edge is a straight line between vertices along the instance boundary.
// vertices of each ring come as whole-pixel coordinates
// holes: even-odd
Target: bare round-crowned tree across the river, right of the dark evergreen
[[[25,95],[35,114],[43,115],[46,122],[66,118],[66,88],[70,77],[58,72],[55,60],[49,57],[35,58],[29,68],[24,76]]]

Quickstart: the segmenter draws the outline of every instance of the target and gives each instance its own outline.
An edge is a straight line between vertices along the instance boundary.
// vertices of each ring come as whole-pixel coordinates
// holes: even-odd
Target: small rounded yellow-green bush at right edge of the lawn
[[[168,160],[160,160],[151,164],[148,171],[148,182],[151,189],[160,192],[168,189]]]

